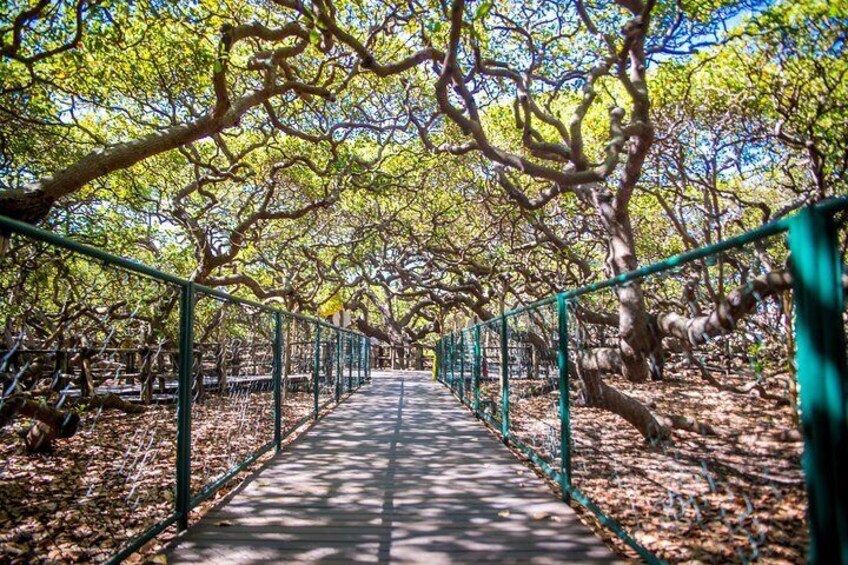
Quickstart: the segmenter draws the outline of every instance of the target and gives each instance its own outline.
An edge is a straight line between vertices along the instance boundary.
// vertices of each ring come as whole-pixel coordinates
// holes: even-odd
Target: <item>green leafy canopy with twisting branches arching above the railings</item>
[[[845,2],[39,6],[2,211],[394,343],[846,192]]]

